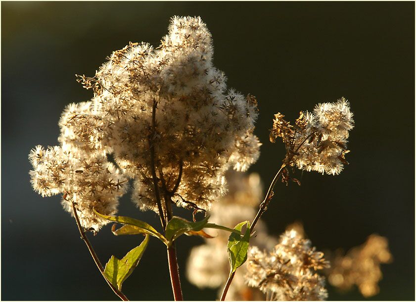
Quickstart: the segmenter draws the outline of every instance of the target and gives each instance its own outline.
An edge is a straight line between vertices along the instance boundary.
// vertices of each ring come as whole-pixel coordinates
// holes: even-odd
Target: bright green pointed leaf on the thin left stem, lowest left
[[[104,268],[104,276],[111,282],[119,291],[123,282],[133,273],[136,266],[139,264],[139,260],[146,250],[149,236],[146,235],[143,242],[130,252],[128,252],[123,259],[118,259],[114,255],[111,256]]]

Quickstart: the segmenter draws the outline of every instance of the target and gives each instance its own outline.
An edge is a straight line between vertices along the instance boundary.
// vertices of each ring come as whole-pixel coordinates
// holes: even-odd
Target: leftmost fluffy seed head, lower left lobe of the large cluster
[[[44,197],[63,194],[62,205],[72,214],[74,201],[81,225],[98,231],[108,221],[99,218],[93,209],[114,214],[127,179],[102,154],[70,150],[36,146],[29,154],[34,167],[30,171],[32,186]]]

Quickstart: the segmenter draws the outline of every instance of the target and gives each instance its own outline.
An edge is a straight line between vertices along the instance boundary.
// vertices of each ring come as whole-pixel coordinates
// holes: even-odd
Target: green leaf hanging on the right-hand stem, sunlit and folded
[[[243,236],[231,233],[228,239],[227,250],[231,273],[235,272],[235,270],[247,260],[248,242],[250,240],[250,222],[240,222],[235,226],[234,230],[241,232],[241,229],[245,224],[247,224],[247,229]]]

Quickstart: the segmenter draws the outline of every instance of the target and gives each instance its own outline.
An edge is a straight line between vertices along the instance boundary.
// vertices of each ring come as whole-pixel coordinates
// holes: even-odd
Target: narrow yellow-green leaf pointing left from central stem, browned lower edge
[[[118,235],[148,234],[148,235],[151,235],[160,239],[165,245],[167,245],[166,238],[162,234],[157,232],[150,224],[144,221],[134,219],[131,217],[126,217],[126,216],[103,215],[103,214],[98,213],[95,209],[94,209],[94,212],[95,214],[97,214],[98,216],[106,220],[125,224],[125,226],[121,227],[120,229],[113,230],[114,235],[118,236]]]

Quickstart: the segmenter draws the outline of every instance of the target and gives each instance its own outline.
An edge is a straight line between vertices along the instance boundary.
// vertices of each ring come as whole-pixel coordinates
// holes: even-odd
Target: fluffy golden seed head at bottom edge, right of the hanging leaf
[[[295,230],[286,231],[271,252],[249,248],[246,282],[272,301],[322,301],[327,298],[324,277],[316,273],[327,267],[324,253]]]

